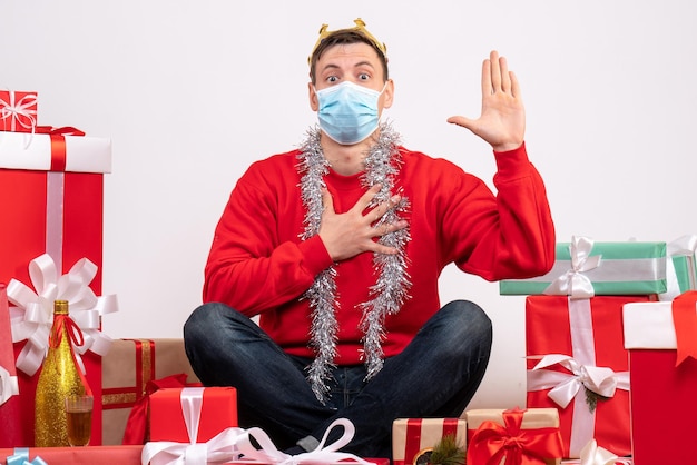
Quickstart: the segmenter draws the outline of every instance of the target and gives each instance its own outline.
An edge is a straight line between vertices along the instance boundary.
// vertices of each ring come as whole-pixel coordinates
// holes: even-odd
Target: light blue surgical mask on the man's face
[[[342,145],[347,146],[365,140],[380,123],[377,99],[385,87],[379,92],[351,81],[344,81],[326,89],[315,90],[320,103],[317,110],[320,128]]]

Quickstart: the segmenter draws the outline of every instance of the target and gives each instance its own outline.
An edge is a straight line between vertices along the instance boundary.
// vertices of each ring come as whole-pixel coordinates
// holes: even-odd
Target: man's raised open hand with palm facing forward
[[[518,79],[504,57],[493,50],[482,65],[482,113],[478,119],[448,118],[484,139],[497,151],[513,150],[523,142],[526,111]]]

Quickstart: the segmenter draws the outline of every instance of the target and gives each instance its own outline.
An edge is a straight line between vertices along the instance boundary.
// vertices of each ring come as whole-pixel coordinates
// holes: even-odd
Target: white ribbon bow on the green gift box
[[[587,298],[596,295],[592,283],[583,275],[586,271],[600,266],[600,255],[590,256],[593,240],[587,237],[571,238],[569,253],[571,255],[571,269],[559,276],[544,289],[543,294],[565,295],[572,298]]]

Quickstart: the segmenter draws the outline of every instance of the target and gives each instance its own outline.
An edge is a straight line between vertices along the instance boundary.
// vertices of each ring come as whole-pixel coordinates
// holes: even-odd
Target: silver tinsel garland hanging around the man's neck
[[[330,171],[330,164],[324,158],[320,144],[320,130],[317,128],[307,132],[307,138],[301,147],[298,155],[298,170],[301,178],[301,196],[306,208],[305,230],[301,239],[306,240],[320,231],[322,212],[322,189],[326,187],[324,176]],[[394,177],[400,171],[400,144],[399,135],[392,130],[389,123],[380,126],[376,142],[371,147],[364,159],[365,170],[361,182],[365,188],[380,184],[380,192],[375,195],[369,208],[390,201],[394,188]],[[400,220],[406,211],[409,201],[406,198],[390,209],[374,225],[375,228]],[[401,229],[381,236],[380,244],[394,247],[396,255],[374,254],[373,267],[376,275],[375,285],[371,286],[370,300],[361,304],[363,311],[361,329],[363,330],[363,356],[367,368],[366,379],[372,378],[382,369],[383,350],[382,340],[385,337],[384,321],[387,315],[396,314],[405,299],[409,298],[411,287],[406,273],[408,260],[404,253],[406,243],[410,240],[409,228]],[[332,368],[336,357],[336,334],[338,324],[336,310],[338,309],[338,295],[335,283],[336,270],[332,266],[322,271],[307,289],[304,298],[310,300],[312,309],[311,340],[310,346],[316,356],[308,368],[307,380],[312,389],[322,403],[325,403],[330,392],[326,382],[332,378]]]

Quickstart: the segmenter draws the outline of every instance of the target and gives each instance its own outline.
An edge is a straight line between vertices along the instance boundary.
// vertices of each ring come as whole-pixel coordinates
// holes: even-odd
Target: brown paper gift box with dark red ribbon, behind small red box
[[[131,409],[147,395],[148,383],[175,375],[181,375],[181,387],[198,383],[180,338],[117,339],[102,358],[101,374],[104,445],[124,442]],[[143,421],[147,425],[147,417]]]

